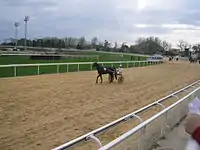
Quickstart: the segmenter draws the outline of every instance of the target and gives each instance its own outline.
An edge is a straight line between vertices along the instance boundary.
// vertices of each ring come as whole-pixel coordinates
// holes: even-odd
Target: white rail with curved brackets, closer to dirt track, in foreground
[[[159,99],[159,100],[157,100],[157,101],[155,101],[155,102],[153,102],[153,103],[151,103],[151,104],[149,104],[149,105],[147,105],[147,106],[145,106],[145,107],[143,107],[143,108],[141,108],[141,109],[139,109],[137,111],[134,111],[134,112],[132,112],[132,113],[126,115],[126,116],[123,116],[120,119],[117,119],[117,120],[115,120],[115,121],[113,121],[113,122],[111,122],[111,123],[109,123],[109,124],[107,124],[105,126],[102,126],[102,127],[98,128],[96,130],[93,130],[93,131],[91,131],[91,132],[89,132],[89,133],[87,133],[87,134],[85,134],[83,136],[80,136],[80,137],[78,137],[78,138],[76,138],[74,140],[71,140],[71,141],[69,141],[69,142],[67,142],[67,143],[65,143],[65,144],[63,144],[61,146],[58,146],[58,147],[54,148],[53,150],[64,150],[64,149],[70,148],[71,146],[74,146],[75,144],[77,144],[79,142],[87,141],[87,140],[90,140],[90,139],[95,140],[96,143],[98,144],[98,146],[102,147],[102,143],[100,142],[100,140],[97,137],[95,137],[95,135],[97,135],[97,134],[99,134],[99,133],[101,133],[101,132],[103,132],[103,131],[105,131],[105,130],[107,130],[107,129],[109,129],[109,128],[111,128],[111,127],[113,127],[113,126],[115,126],[115,125],[117,125],[119,123],[121,123],[121,122],[127,121],[127,120],[129,120],[131,118],[137,118],[142,123],[143,120],[138,116],[139,113],[141,113],[141,112],[143,112],[143,111],[145,111],[145,110],[147,110],[147,109],[149,109],[149,108],[151,108],[153,106],[156,106],[156,105],[161,106],[162,108],[165,108],[165,106],[162,105],[161,102],[163,102],[163,101],[165,101],[165,100],[167,100],[168,98],[171,98],[171,97],[176,97],[177,99],[179,99],[179,97],[176,94],[179,94],[180,92],[186,92],[188,88],[192,88],[196,84],[200,84],[200,80],[198,80],[198,81],[196,81],[196,82],[194,82],[194,83],[192,83],[192,84],[190,84],[190,85],[188,85],[188,86],[186,86],[186,87],[184,87],[184,88],[182,88],[182,89],[180,89],[180,90],[178,90],[178,91],[176,91],[176,92],[174,92],[172,94],[169,94],[169,95],[167,95],[167,96],[165,96],[165,97],[163,97],[163,98],[161,98],[161,99]],[[142,125],[143,124],[144,124],[144,122],[142,123]],[[113,145],[117,144],[117,142],[118,142],[118,140],[112,142],[111,144],[109,144],[108,146],[105,146],[104,148],[106,149],[108,147],[112,147]],[[100,149],[100,150],[104,150],[104,149]]]

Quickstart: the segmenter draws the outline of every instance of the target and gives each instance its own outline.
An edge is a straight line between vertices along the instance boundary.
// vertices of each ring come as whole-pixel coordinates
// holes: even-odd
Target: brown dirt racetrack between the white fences
[[[120,85],[107,76],[96,85],[96,71],[0,79],[0,149],[52,149],[199,80],[200,65],[167,62],[123,73]]]

